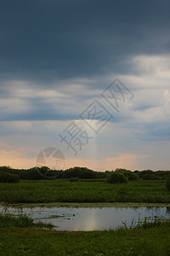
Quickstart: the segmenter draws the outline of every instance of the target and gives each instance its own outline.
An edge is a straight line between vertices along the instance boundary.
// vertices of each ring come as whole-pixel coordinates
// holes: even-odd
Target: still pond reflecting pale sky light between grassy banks
[[[170,218],[170,207],[0,207],[0,212],[26,213],[35,222],[54,224],[54,230],[116,230],[139,219]]]

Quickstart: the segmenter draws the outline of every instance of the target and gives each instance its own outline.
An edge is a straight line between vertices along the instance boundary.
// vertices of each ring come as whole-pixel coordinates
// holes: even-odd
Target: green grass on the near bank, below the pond
[[[0,229],[0,255],[170,255],[170,224],[138,230]]]

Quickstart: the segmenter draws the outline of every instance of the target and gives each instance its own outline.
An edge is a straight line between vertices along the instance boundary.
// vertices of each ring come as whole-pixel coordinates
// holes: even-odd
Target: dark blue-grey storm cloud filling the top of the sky
[[[130,55],[169,51],[169,1],[1,1],[1,79],[127,73]]]

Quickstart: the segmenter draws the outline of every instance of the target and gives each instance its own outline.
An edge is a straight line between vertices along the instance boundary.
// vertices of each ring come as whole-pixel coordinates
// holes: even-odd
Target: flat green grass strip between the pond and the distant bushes
[[[0,183],[0,201],[6,203],[47,202],[145,202],[169,203],[166,181],[133,181],[127,184],[69,180]]]

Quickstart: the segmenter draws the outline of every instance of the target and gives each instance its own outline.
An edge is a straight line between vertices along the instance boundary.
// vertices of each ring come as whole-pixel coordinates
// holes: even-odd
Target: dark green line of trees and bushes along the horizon
[[[72,167],[63,170],[50,170],[48,166],[32,167],[30,169],[14,169],[10,166],[0,166],[0,183],[17,183],[20,180],[40,180],[45,179],[40,173],[48,172],[48,176],[56,178],[77,179],[107,179],[109,183],[126,183],[128,180],[164,180],[170,177],[169,171],[130,171],[117,168],[115,171],[94,172],[87,167]],[[114,174],[113,174],[114,173]],[[74,179],[75,178],[75,179]],[[116,182],[115,182],[116,181]]]

